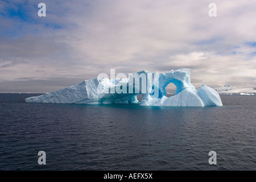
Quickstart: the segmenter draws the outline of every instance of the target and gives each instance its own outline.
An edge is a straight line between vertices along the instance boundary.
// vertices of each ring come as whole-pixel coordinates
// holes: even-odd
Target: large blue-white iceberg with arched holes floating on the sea
[[[106,75],[106,74],[105,74]],[[66,104],[140,104],[142,106],[222,106],[220,95],[209,86],[198,90],[190,81],[191,69],[168,73],[141,71],[122,78],[108,76],[82,81],[55,92],[26,98],[26,102]],[[175,96],[166,96],[166,86],[176,86]],[[142,101],[137,99],[142,94]]]

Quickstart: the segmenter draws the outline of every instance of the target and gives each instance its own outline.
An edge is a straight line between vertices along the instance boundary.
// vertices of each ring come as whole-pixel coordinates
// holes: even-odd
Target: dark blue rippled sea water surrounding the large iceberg
[[[24,102],[36,95],[0,94],[0,170],[256,169],[256,96],[221,96],[223,107]]]

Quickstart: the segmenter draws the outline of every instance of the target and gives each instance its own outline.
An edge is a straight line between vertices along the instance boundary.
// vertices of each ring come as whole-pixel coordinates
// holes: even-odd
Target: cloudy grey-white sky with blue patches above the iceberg
[[[255,10],[255,0],[0,0],[0,92],[181,67],[196,88],[256,88]]]

